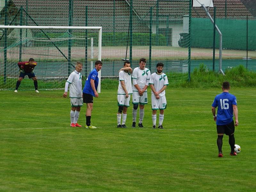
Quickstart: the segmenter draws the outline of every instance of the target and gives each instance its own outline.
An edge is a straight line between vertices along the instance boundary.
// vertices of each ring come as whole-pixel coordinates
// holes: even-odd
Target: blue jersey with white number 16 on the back
[[[218,107],[217,125],[226,125],[232,122],[233,105],[236,105],[236,97],[229,92],[222,92],[215,97],[212,107]]]

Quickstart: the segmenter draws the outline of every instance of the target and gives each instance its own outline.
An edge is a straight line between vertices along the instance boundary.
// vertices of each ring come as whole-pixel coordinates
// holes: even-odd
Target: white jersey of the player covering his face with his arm
[[[125,92],[121,85],[121,81],[124,81],[124,85],[125,85],[125,88],[126,88],[128,94],[132,94],[131,76],[132,76],[131,73],[125,72],[124,70],[119,72],[119,85],[118,85],[118,90],[117,90],[118,95],[125,95]]]

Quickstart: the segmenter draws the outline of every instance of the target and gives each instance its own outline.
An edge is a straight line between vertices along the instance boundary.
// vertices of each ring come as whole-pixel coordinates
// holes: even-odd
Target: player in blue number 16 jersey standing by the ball
[[[219,149],[219,157],[222,155],[222,138],[225,133],[229,137],[229,145],[231,148],[230,155],[236,156],[235,148],[235,126],[238,125],[238,110],[236,105],[236,97],[229,93],[230,84],[229,82],[223,82],[222,93],[217,95],[212,103],[212,115],[214,121],[217,125],[217,146]],[[218,112],[216,115],[216,108],[218,107]],[[233,120],[233,113],[235,116],[235,124]]]

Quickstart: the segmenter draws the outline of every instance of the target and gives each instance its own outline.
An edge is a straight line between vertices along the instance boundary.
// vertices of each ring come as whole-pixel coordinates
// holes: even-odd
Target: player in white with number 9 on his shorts
[[[141,58],[139,67],[133,69],[132,73],[132,127],[136,127],[137,109],[140,105],[140,121],[138,126],[143,127],[144,105],[148,104],[148,83],[150,79],[150,70],[145,68],[146,59]]]

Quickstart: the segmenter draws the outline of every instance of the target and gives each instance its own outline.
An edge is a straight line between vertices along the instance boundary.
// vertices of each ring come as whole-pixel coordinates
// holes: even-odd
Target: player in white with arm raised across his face
[[[132,94],[132,68],[130,61],[124,61],[124,68],[119,70],[119,85],[117,90],[117,127],[126,128],[127,108],[130,106],[130,95]],[[121,124],[121,115],[123,120]]]

